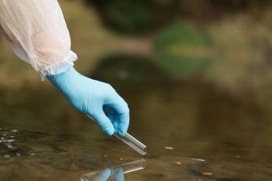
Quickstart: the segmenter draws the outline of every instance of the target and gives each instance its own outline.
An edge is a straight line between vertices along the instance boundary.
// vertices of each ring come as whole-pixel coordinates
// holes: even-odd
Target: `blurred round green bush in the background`
[[[174,78],[185,78],[206,70],[211,45],[208,34],[200,33],[186,22],[174,24],[156,36],[156,61]]]

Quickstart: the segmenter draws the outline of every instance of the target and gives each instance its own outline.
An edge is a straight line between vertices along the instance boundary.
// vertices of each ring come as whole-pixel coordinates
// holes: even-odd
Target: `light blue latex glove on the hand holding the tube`
[[[84,77],[73,67],[66,72],[47,76],[77,110],[91,116],[111,136],[124,136],[128,131],[128,104],[109,84]],[[109,108],[106,116],[103,108]]]

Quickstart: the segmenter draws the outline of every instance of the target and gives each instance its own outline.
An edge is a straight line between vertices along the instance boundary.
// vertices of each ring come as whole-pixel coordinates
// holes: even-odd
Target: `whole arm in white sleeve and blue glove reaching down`
[[[70,35],[56,0],[0,0],[0,30],[10,47],[49,79],[77,110],[107,134],[126,134],[129,110],[112,86],[84,77],[74,68]],[[106,116],[103,107],[110,107]]]

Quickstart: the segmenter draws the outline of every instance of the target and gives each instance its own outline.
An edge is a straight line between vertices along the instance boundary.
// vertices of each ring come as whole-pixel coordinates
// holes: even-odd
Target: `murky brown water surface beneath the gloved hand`
[[[114,86],[130,106],[129,133],[149,147],[146,167],[125,180],[272,179],[269,89]],[[0,100],[0,180],[80,180],[142,159],[51,86],[1,88]]]

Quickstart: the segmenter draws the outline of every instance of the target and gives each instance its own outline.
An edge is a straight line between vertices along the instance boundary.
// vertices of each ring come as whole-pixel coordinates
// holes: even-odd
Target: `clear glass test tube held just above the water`
[[[87,115],[87,116],[89,118],[91,118],[91,116],[89,116],[89,115]],[[91,118],[91,119],[94,120],[93,118]],[[96,121],[96,120],[94,120],[94,121]],[[126,143],[127,145],[129,145],[130,148],[133,148],[133,150],[138,152],[140,155],[146,155],[147,150],[148,150],[146,145],[144,145],[143,143],[141,143],[140,141],[135,139],[130,134],[126,133],[125,136],[120,136],[119,134],[114,134],[114,136],[121,139],[121,141],[123,141],[123,143]]]

